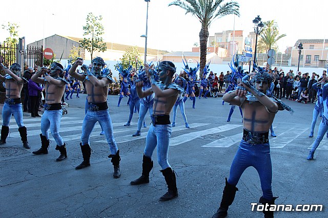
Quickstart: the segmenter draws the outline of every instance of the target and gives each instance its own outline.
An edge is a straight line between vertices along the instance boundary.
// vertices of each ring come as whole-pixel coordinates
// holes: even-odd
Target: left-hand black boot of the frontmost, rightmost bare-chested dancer
[[[212,216],[212,218],[223,218],[228,215],[228,208],[235,199],[236,191],[238,191],[238,188],[236,188],[236,186],[234,185],[229,184],[226,178],[226,186],[224,186],[223,189],[220,207],[217,212]]]

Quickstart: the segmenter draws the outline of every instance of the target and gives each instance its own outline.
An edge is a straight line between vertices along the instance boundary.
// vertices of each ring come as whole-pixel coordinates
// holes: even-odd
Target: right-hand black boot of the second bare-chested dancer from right
[[[166,192],[159,201],[169,201],[178,197],[178,189],[176,187],[175,173],[171,167],[159,170],[163,173],[166,184],[168,185],[168,192]]]

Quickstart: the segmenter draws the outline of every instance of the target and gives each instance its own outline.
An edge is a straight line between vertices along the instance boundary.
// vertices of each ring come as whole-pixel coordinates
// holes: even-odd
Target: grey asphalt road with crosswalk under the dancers
[[[40,119],[24,113],[31,149],[24,149],[12,118],[7,144],[0,146],[0,216],[1,217],[211,217],[216,212],[229,177],[231,162],[241,139],[242,123],[236,108],[227,122],[230,106],[221,98],[186,102],[190,129],[184,127],[178,110],[173,127],[169,162],[177,173],[179,197],[159,202],[167,191],[154,153],[150,183],[131,186],[141,175],[142,152],[147,128],[140,137],[136,131],[137,114],[132,125],[123,126],[129,116],[127,98],[117,107],[118,96],[109,96],[108,105],[114,136],[121,154],[121,177],[114,179],[113,166],[104,136],[97,124],[91,137],[91,167],[75,170],[82,160],[79,148],[86,95],[68,100],[68,114],[61,119],[60,135],[67,142],[68,159],[55,162],[59,152],[52,140],[48,155],[33,156],[40,147]],[[314,104],[284,100],[295,111],[279,112],[273,126],[277,138],[270,137],[273,164],[273,193],[277,204],[323,204],[321,212],[276,212],[275,217],[328,217],[328,139],[324,138],[308,161],[314,138],[309,138]],[[172,114],[171,114],[172,115]],[[172,118],[171,118],[172,121]],[[315,136],[320,120],[318,119]],[[150,118],[146,117],[147,126]],[[261,197],[260,181],[254,168],[243,173],[228,217],[263,217],[251,211],[251,203]]]

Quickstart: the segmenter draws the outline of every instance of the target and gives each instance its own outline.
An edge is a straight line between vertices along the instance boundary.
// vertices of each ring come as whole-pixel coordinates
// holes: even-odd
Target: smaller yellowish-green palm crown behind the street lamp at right
[[[264,28],[260,34],[258,49],[267,53],[270,49],[277,49],[277,41],[286,34],[279,35],[278,25],[276,21],[269,20],[264,22]]]

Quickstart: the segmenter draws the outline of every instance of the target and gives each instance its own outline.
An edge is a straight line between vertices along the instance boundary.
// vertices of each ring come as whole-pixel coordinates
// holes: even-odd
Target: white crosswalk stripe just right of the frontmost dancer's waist
[[[304,132],[308,131],[309,128],[304,127],[293,127],[282,134],[277,135],[276,138],[270,140],[270,148],[283,148],[287,144],[291,143],[297,137]]]

